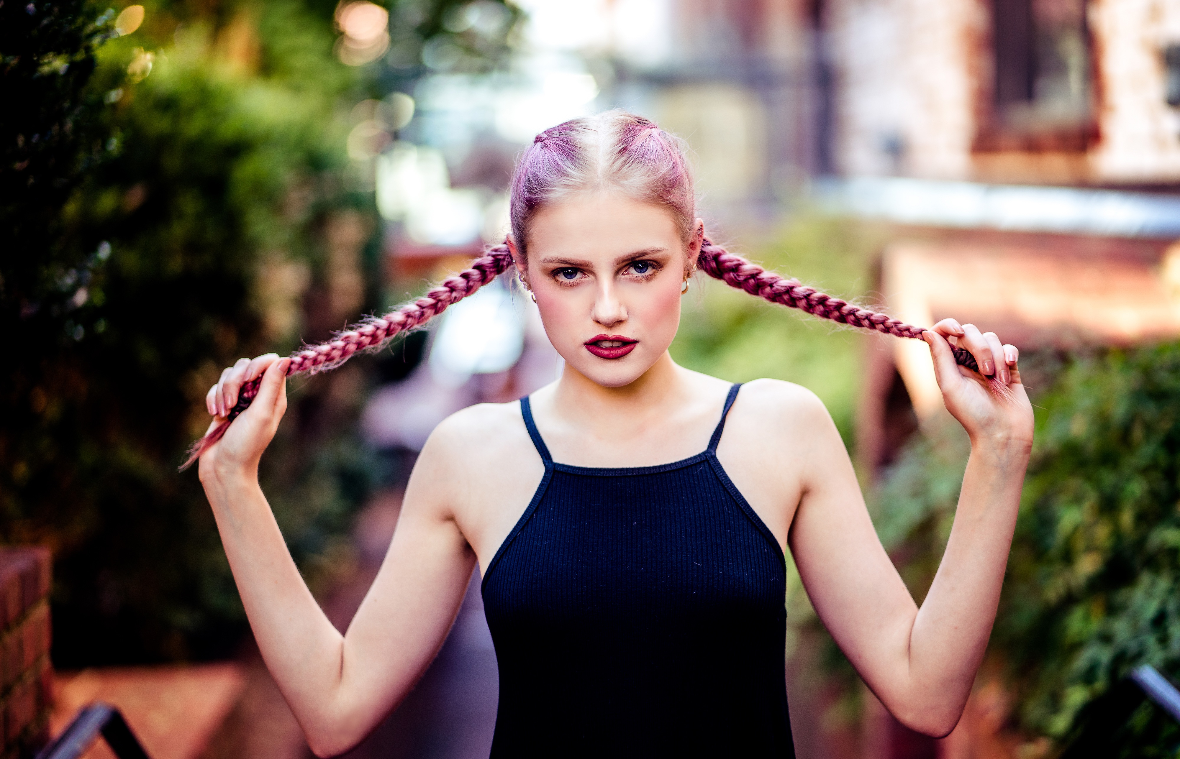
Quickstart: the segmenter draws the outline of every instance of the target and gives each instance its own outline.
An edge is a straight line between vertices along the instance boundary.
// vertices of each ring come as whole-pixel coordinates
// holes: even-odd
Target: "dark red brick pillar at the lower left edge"
[[[32,755],[48,737],[50,552],[0,547],[0,759]]]

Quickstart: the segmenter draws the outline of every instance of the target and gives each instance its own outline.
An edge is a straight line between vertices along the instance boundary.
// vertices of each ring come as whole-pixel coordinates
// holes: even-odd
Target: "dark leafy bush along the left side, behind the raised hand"
[[[93,24],[85,6],[73,12]],[[321,62],[343,68],[321,27]],[[93,133],[24,169],[39,172],[34,189],[60,186],[52,198],[9,196],[12,213],[39,226],[4,263],[4,319],[19,348],[0,381],[2,537],[54,549],[64,667],[203,658],[236,644],[243,618],[211,515],[176,464],[219,367],[276,346],[256,297],[263,253],[314,264],[316,226],[348,202],[321,177],[342,160],[330,99],[349,79],[335,71],[294,92],[235,71],[197,34],[150,57],[132,40],[96,50],[92,33],[77,53],[88,81],[48,91],[48,105],[17,105],[80,114]],[[76,176],[67,186],[51,167]],[[294,204],[308,183],[310,202]],[[280,455],[306,464],[289,488],[322,469],[296,446]],[[347,527],[339,489],[312,489],[322,495],[304,504],[314,519],[290,535],[301,559]]]

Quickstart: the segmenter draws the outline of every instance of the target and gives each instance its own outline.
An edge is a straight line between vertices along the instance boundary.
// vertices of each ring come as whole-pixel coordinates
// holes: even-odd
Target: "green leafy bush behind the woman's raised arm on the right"
[[[1037,371],[1037,357],[1027,363]],[[1030,382],[1047,389],[1034,397],[1034,455],[991,649],[1008,666],[1021,727],[1077,751],[1094,740],[1087,725],[1127,698],[1132,668],[1180,672],[1180,344],[1064,363],[1045,355],[1040,368],[1055,380]],[[881,540],[919,599],[968,453],[948,422],[907,447],[874,499]],[[1106,755],[1176,755],[1172,720],[1132,706]]]

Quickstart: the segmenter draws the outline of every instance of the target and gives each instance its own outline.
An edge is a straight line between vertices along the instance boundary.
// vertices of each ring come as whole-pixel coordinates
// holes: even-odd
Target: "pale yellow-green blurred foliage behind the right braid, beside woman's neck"
[[[885,239],[878,225],[801,211],[771,238],[730,250],[830,295],[864,298]],[[772,377],[804,385],[824,401],[851,446],[867,338],[697,275],[671,355],[683,367],[730,382]]]

